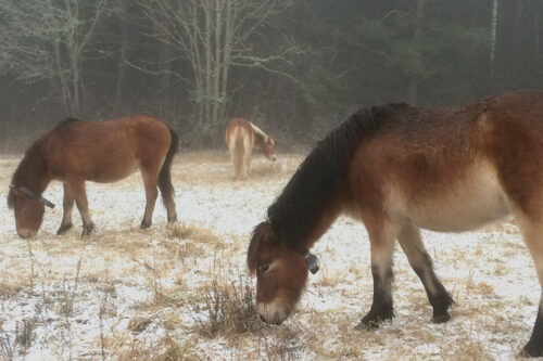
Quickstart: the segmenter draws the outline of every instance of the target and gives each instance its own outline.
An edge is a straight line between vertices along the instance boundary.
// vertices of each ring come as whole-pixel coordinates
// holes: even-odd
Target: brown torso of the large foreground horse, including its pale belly
[[[543,93],[405,108],[363,139],[348,172],[348,211],[465,231],[543,206]]]

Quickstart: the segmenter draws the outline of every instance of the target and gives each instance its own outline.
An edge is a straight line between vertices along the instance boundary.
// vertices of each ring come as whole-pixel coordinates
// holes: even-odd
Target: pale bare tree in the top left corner
[[[0,0],[0,70],[24,81],[49,79],[65,111],[81,112],[83,62],[110,0]]]

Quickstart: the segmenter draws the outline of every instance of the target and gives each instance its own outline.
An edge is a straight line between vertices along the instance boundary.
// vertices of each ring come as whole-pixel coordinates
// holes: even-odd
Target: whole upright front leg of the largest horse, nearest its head
[[[356,325],[356,330],[376,328],[384,320],[394,317],[392,302],[392,254],[395,234],[392,225],[368,227],[371,249],[371,275],[374,278],[374,301],[369,312]]]

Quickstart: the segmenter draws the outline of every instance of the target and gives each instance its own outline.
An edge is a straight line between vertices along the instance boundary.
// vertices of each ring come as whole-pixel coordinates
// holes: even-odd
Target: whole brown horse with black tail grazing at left
[[[110,183],[140,170],[146,188],[146,212],[141,228],[151,225],[161,190],[168,222],[176,220],[171,166],[177,151],[176,133],[149,116],[103,121],[66,119],[41,136],[26,151],[10,185],[8,206],[14,208],[15,227],[22,237],[35,235],[43,219],[41,197],[52,180],[64,183],[64,215],[58,234],[72,228],[74,201],[81,214],[83,234],[94,224],[90,218],[85,181]]]

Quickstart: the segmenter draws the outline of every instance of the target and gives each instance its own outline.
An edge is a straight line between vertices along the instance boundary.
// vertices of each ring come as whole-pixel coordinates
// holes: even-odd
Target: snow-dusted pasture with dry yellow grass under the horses
[[[252,162],[233,182],[225,151],[179,153],[173,183],[179,223],[157,201],[141,230],[139,173],[87,183],[97,231],[55,235],[62,185],[52,183],[38,235],[21,240],[5,197],[21,156],[0,156],[0,360],[494,360],[516,359],[535,319],[540,286],[517,228],[506,219],[471,233],[424,232],[438,275],[456,301],[432,324],[422,284],[394,257],[395,319],[354,326],[369,310],[372,280],[364,227],[341,217],[314,247],[296,311],[279,326],[255,314],[245,270],[251,231],[304,154]]]

